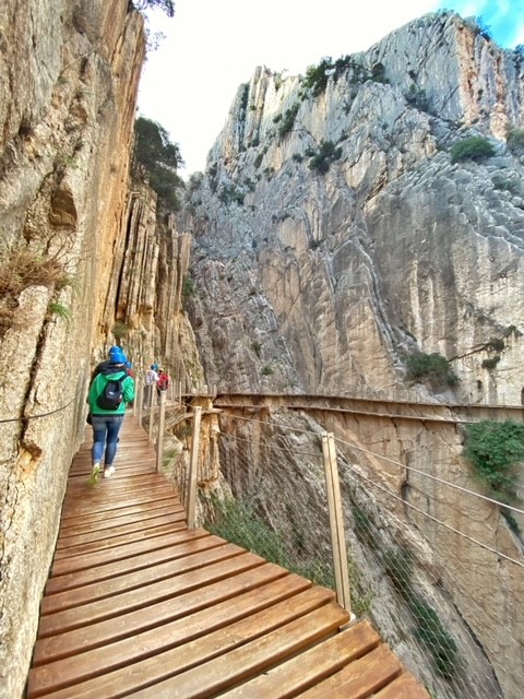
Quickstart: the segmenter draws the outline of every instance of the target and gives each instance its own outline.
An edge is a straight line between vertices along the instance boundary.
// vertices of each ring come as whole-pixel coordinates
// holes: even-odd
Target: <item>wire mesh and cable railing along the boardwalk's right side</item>
[[[413,453],[403,463],[335,439],[305,413],[239,415],[209,396],[166,400],[164,417],[155,408],[145,424],[159,435],[158,467],[190,524],[332,587],[436,699],[519,696],[521,507],[476,491],[463,471],[436,474]]]

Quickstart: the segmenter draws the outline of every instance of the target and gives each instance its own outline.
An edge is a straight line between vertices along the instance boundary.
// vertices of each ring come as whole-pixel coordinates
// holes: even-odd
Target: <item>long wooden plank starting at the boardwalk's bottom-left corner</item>
[[[109,645],[32,667],[27,697],[29,699],[64,687],[73,687],[90,677],[129,666],[163,650],[187,643],[279,600],[290,597],[299,590],[311,585],[299,576],[283,573],[285,571],[278,566],[266,564],[257,568],[257,576],[251,571],[243,573],[243,584],[235,585],[234,581],[230,581],[229,599],[212,608],[206,607],[141,633],[128,635]],[[70,696],[75,694],[71,692]]]

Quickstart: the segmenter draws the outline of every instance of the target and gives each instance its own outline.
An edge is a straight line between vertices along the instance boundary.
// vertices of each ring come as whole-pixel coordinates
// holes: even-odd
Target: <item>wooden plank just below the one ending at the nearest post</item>
[[[221,694],[221,699],[286,699],[296,697],[344,665],[380,644],[368,621],[360,621],[314,648],[281,663],[258,677]]]

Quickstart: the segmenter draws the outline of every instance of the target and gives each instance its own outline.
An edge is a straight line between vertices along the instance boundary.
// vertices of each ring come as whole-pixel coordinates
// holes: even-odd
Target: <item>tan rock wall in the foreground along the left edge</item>
[[[0,696],[22,695],[127,215],[143,22],[0,8]],[[26,270],[15,283],[15,270]],[[14,276],[13,276],[14,275]],[[13,281],[14,280],[14,281]]]

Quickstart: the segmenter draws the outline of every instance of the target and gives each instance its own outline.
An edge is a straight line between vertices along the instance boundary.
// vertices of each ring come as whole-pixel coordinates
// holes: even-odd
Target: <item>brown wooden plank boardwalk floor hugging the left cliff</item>
[[[128,415],[110,478],[73,460],[27,698],[429,699],[332,591],[189,530]]]

